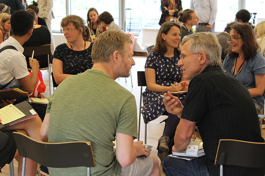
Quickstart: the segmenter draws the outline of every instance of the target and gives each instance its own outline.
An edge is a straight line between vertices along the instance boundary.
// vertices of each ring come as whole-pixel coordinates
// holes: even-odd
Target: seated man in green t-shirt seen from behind
[[[96,162],[92,176],[160,175],[157,156],[142,141],[133,142],[137,138],[135,97],[114,81],[128,77],[135,64],[131,43],[118,30],[100,34],[92,48],[92,69],[68,77],[48,98],[41,139],[91,142]],[[86,175],[86,168],[49,168],[49,173]]]

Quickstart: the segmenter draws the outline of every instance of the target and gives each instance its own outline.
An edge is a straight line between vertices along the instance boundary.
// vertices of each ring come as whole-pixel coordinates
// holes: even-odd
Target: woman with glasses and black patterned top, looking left
[[[60,84],[71,75],[92,68],[92,45],[89,29],[81,17],[69,15],[61,21],[61,33],[67,43],[58,45],[52,56],[55,82]]]

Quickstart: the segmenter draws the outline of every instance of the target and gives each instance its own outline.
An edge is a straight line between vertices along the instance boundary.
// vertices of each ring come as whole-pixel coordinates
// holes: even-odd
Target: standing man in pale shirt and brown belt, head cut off
[[[215,29],[217,0],[191,0],[190,8],[194,9],[200,18],[195,32],[212,32]]]

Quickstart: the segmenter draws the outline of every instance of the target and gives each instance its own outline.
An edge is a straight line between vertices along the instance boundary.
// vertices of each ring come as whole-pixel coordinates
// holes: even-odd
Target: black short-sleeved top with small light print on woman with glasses
[[[78,74],[83,73],[85,70],[91,69],[93,66],[91,58],[91,50],[93,43],[83,51],[74,51],[69,48],[65,43],[58,45],[55,48],[52,58],[63,61],[64,74]]]

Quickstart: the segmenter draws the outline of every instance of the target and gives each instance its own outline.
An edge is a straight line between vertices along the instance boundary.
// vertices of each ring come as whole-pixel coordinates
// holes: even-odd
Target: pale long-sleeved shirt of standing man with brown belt
[[[199,23],[213,25],[216,20],[217,0],[191,0],[190,9],[197,12]]]

